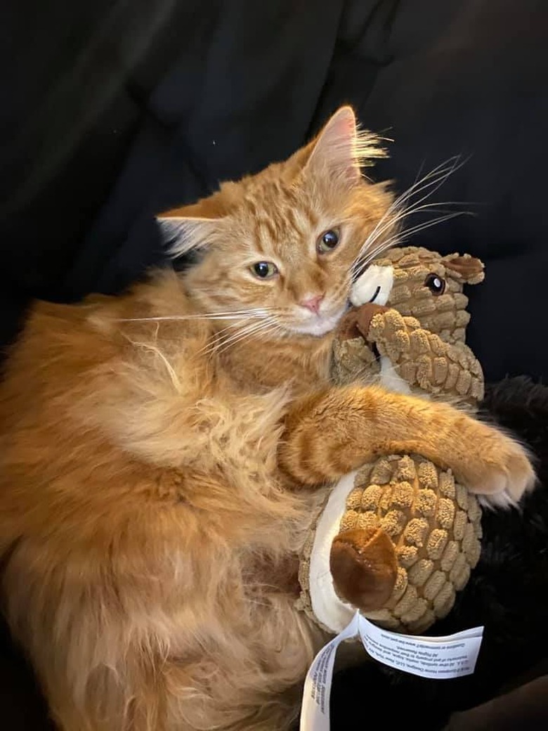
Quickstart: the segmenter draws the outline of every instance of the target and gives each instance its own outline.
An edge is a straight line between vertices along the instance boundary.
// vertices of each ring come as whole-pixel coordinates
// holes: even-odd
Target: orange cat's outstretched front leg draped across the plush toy
[[[332,388],[294,401],[279,455],[292,479],[316,485],[401,452],[452,469],[494,504],[517,502],[535,482],[527,453],[510,436],[452,406],[378,387]]]

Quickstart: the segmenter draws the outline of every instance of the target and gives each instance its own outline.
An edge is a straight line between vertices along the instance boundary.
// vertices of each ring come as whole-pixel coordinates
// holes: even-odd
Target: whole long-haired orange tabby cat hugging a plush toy
[[[349,107],[161,225],[185,273],[38,303],[0,389],[1,596],[64,731],[282,730],[319,637],[295,561],[327,482],[420,452],[514,499],[522,448],[449,406],[331,387],[362,257],[394,234]]]

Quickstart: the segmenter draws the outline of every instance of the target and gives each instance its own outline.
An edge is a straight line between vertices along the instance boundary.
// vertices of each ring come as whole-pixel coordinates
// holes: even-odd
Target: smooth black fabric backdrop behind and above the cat
[[[545,0],[3,0],[0,343],[29,298],[126,287],[162,259],[154,212],[351,102],[395,140],[375,174],[398,190],[469,156],[438,200],[476,215],[411,243],[482,257],[468,339],[487,379],[542,379],[547,39]]]

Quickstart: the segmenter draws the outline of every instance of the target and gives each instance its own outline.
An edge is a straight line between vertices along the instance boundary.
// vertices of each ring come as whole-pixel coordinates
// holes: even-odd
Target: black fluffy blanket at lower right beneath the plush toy
[[[400,731],[410,719],[422,731],[441,729],[455,711],[473,708],[548,673],[548,387],[525,378],[506,379],[487,389],[484,411],[533,450],[539,486],[520,511],[484,512],[479,564],[452,613],[430,631],[449,635],[483,624],[476,672],[432,681],[373,662],[344,671],[332,689],[332,731],[356,727],[364,711],[356,699],[365,697],[368,705],[374,702],[378,708],[383,731]],[[530,728],[548,728],[546,690],[546,684],[532,686],[531,693],[544,698],[546,716],[544,721],[536,716],[536,725]],[[467,721],[462,727],[498,731],[517,728],[519,723],[523,729],[525,709],[517,711],[515,725],[509,724],[508,713],[500,714],[498,721],[480,721],[477,726]]]

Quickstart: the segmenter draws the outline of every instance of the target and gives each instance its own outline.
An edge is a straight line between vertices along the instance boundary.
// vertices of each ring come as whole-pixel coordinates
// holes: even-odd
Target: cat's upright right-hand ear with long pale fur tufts
[[[361,178],[360,167],[370,159],[384,157],[378,138],[358,129],[352,107],[340,107],[327,121],[316,140],[305,171],[313,175],[330,175],[348,183]]]

